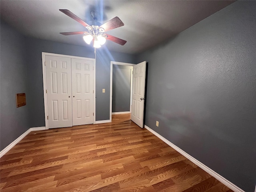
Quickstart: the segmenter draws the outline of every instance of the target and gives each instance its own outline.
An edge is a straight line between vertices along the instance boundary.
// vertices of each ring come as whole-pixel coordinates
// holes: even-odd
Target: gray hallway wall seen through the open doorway
[[[112,112],[130,111],[132,66],[113,65],[112,71]]]

